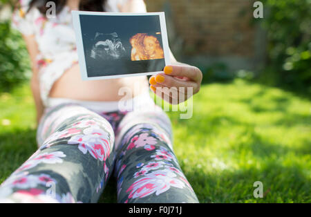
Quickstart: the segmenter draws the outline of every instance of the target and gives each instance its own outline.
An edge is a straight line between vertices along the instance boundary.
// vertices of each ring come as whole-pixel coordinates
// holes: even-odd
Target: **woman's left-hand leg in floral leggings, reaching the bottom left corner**
[[[3,202],[96,202],[114,158],[109,122],[75,104],[47,111],[39,149],[0,187]]]

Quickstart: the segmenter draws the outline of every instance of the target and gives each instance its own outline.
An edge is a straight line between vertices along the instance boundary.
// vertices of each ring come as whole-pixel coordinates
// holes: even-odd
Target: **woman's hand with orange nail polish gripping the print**
[[[180,104],[200,91],[202,72],[195,66],[165,66],[164,73],[149,79],[153,93],[170,104]]]

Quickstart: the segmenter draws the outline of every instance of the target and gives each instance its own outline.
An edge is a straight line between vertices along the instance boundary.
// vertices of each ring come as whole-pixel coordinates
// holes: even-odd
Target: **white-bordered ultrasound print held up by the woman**
[[[169,64],[164,12],[73,13],[82,79],[153,75]]]

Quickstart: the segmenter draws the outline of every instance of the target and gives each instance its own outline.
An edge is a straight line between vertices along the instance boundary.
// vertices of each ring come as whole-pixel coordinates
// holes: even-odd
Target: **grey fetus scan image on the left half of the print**
[[[91,57],[97,60],[120,59],[126,50],[116,32],[104,34],[97,32],[94,38]]]

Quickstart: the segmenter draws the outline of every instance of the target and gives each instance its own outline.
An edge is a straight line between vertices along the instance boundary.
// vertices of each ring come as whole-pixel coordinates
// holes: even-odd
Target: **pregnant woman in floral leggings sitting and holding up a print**
[[[149,97],[149,83],[160,97],[169,94],[156,91],[164,86],[197,93],[201,71],[172,56],[172,66],[149,82],[82,81],[70,11],[146,12],[144,1],[59,0],[53,19],[46,17],[47,2],[19,1],[12,18],[32,61],[39,149],[2,183],[0,201],[97,202],[113,173],[117,202],[198,202],[173,153],[171,122]],[[120,111],[124,87],[133,93],[126,99],[131,108]]]

